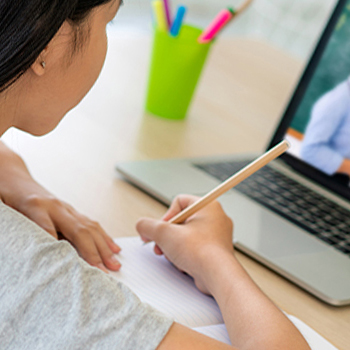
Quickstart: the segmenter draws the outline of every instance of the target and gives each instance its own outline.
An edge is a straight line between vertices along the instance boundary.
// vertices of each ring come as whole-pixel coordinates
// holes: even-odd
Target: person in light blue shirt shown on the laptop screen
[[[327,175],[350,176],[349,78],[322,96],[312,110],[301,158]],[[338,177],[339,178],[339,177]]]

